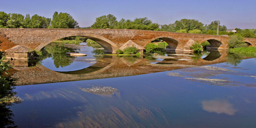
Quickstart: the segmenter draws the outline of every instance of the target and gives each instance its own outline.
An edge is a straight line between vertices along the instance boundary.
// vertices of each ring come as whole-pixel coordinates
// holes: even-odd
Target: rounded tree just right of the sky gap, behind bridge
[[[124,20],[122,20],[124,22]],[[91,28],[115,28],[117,26],[117,20],[114,15],[108,14],[107,16],[100,16],[96,18]]]

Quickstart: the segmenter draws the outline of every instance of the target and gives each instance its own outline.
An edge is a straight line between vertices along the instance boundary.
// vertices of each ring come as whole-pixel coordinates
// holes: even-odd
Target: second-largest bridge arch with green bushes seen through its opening
[[[147,47],[150,45],[156,45],[156,50],[169,50],[169,51],[183,51],[183,45],[179,43],[177,39],[172,37],[156,37],[151,39],[151,42],[145,47],[147,52]]]

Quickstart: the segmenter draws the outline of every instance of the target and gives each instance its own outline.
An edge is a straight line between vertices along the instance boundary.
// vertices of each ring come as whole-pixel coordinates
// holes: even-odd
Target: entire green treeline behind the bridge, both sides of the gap
[[[169,31],[194,34],[217,35],[218,21],[210,24],[203,24],[199,20],[181,19],[171,24],[159,25],[153,23],[148,18],[135,18],[134,20],[116,20],[112,14],[103,15],[96,18],[94,24],[87,28],[115,28],[115,29],[139,29],[153,31]],[[29,14],[23,16],[17,13],[0,12],[0,28],[79,28],[78,22],[68,13],[54,12],[52,19],[39,16],[37,14],[30,17]],[[256,29],[239,29],[236,35],[248,38],[256,38]],[[219,35],[233,35],[234,32],[227,32],[225,25],[219,25]]]

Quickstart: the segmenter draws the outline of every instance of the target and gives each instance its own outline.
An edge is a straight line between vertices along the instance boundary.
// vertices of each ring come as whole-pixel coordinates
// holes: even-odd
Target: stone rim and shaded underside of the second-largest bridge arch
[[[155,38],[150,39],[150,42],[156,39],[162,39],[168,44],[166,46],[166,50],[183,51],[184,46],[180,43],[179,39],[177,38],[173,38],[171,36],[157,36]]]

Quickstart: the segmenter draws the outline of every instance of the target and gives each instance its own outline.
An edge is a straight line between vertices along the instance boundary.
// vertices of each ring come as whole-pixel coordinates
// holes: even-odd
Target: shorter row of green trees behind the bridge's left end
[[[0,28],[78,28],[77,25],[68,13],[54,12],[51,19],[37,14],[30,17],[29,14],[0,12]]]

